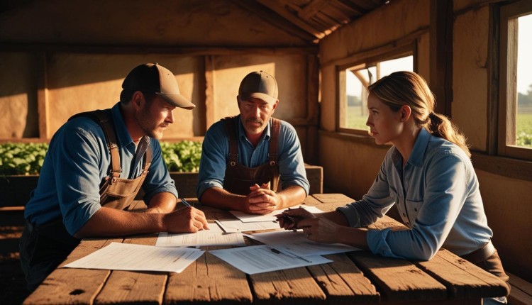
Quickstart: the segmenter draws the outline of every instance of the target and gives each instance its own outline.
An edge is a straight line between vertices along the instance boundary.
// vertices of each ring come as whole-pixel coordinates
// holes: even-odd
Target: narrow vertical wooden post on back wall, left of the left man
[[[39,115],[39,138],[48,141],[50,138],[50,110],[48,106],[48,79],[46,53],[40,56],[37,77],[37,105]]]

